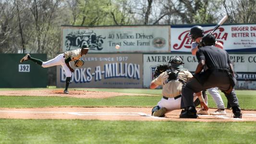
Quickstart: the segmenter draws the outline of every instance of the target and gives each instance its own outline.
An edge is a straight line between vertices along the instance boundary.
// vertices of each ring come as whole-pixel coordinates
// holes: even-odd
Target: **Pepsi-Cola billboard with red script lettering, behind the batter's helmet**
[[[191,51],[193,40],[189,33],[192,26],[171,25],[171,51]],[[215,27],[201,26],[205,34],[210,33]],[[227,51],[256,51],[256,24],[221,25],[213,35]]]

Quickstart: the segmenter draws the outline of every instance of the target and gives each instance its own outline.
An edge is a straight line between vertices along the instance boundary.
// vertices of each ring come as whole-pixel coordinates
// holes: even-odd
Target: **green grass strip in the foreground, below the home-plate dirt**
[[[0,143],[253,144],[255,122],[0,120]]]

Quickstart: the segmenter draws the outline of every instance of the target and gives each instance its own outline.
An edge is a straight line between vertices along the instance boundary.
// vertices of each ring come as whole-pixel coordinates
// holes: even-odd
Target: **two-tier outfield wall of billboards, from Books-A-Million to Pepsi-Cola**
[[[200,25],[205,34],[215,27],[215,24]],[[167,63],[176,55],[183,58],[185,68],[194,72],[197,60],[190,52],[193,40],[189,32],[192,26],[62,25],[62,52],[80,48],[83,44],[91,48],[83,57],[85,65],[73,73],[70,86],[148,88],[155,67]],[[230,55],[238,80],[237,88],[256,89],[256,54],[250,53],[256,52],[256,24],[223,24],[213,35],[225,50],[237,53]],[[120,49],[115,49],[117,44],[121,46]],[[65,86],[65,74],[61,66],[57,67],[56,84],[57,87]]]

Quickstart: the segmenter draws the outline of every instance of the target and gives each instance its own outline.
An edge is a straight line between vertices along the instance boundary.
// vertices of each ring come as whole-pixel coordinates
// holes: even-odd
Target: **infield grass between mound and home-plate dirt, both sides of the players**
[[[113,90],[113,89],[110,89]],[[120,91],[123,89],[120,89]],[[138,89],[142,92],[142,89]],[[144,94],[149,94],[150,89],[144,89]],[[240,107],[243,109],[256,109],[255,91],[236,91]],[[143,94],[142,94],[143,95]],[[225,106],[227,98],[221,93]],[[77,107],[97,107],[97,106],[118,106],[118,107],[153,107],[161,99],[158,96],[116,96],[110,98],[73,98],[58,96],[0,96],[1,108],[36,108],[54,106],[77,106]],[[213,98],[208,95],[208,106],[216,108]]]

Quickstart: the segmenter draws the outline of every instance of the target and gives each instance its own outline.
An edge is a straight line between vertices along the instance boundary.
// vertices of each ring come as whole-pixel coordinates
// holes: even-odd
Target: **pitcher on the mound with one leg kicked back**
[[[90,48],[88,45],[83,45],[81,48],[74,49],[71,51],[66,51],[62,54],[59,54],[54,59],[48,60],[48,61],[42,61],[39,59],[35,59],[35,58],[32,58],[30,56],[30,54],[26,54],[20,60],[20,62],[23,62],[25,60],[32,60],[32,61],[36,62],[37,64],[39,64],[40,66],[42,66],[43,68],[48,68],[48,67],[52,67],[55,65],[61,65],[61,67],[63,68],[63,70],[65,71],[65,74],[66,74],[66,88],[64,90],[64,94],[69,94],[68,86],[70,83],[72,72],[74,72],[74,70],[70,67],[69,62],[74,61],[75,62],[74,66],[76,66],[76,67],[82,66],[84,64],[84,60],[80,60],[80,58],[83,55],[86,55],[88,53],[89,49]]]

